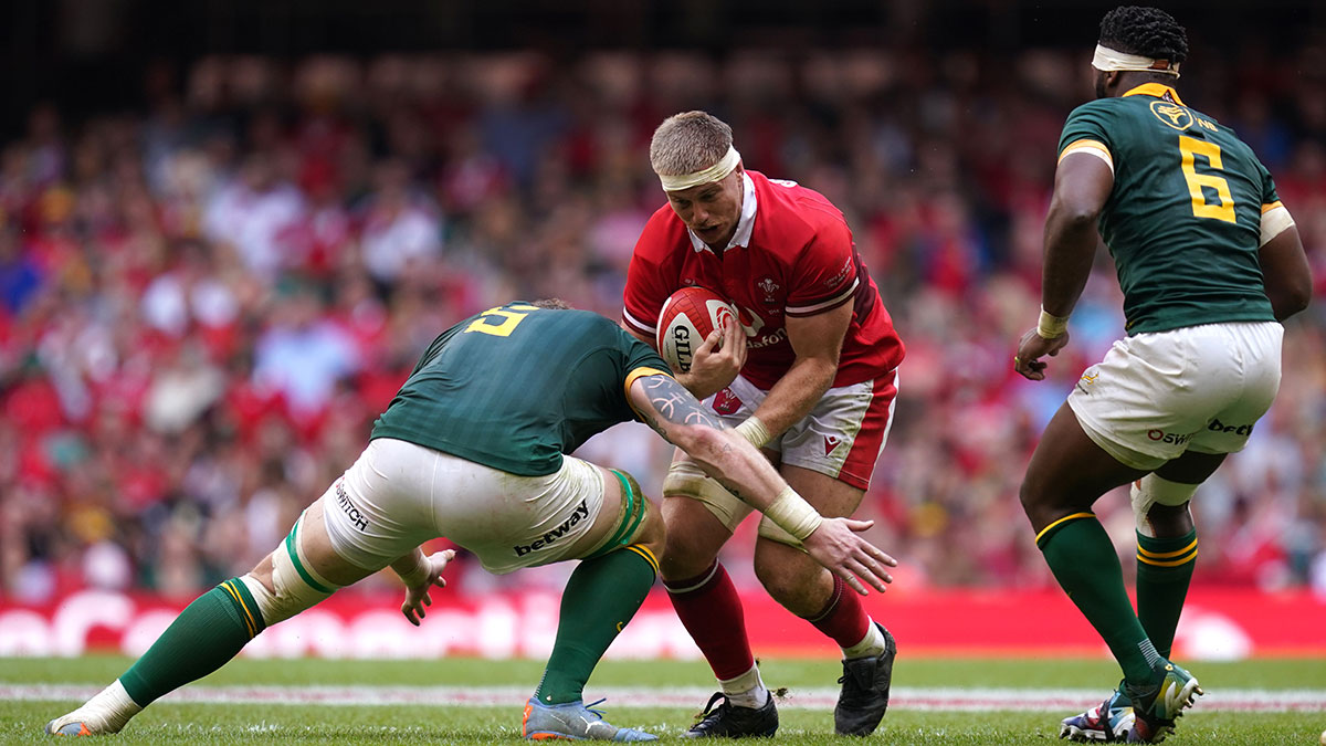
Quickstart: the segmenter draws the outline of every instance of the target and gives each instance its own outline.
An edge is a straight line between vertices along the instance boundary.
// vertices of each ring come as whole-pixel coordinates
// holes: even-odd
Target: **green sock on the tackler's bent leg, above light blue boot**
[[[553,654],[534,690],[540,702],[561,705],[582,697],[589,674],[644,603],[656,575],[658,560],[639,544],[575,568],[562,592]]]

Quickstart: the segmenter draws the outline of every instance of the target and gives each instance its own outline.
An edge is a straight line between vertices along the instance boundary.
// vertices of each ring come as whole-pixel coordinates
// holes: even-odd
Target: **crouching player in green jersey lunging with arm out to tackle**
[[[732,325],[723,338],[735,345],[743,333]],[[566,455],[636,418],[859,593],[891,581],[894,559],[859,536],[870,522],[821,518],[667,373],[651,346],[560,301],[514,303],[443,332],[374,423],[359,459],[285,542],[251,572],[199,596],[114,684],[46,731],[117,733],[158,697],[224,665],[264,628],[389,565],[406,584],[400,611],[418,625],[455,556],[426,556],[420,544],[447,536],[497,573],[582,560],[562,595],[544,678],[525,705],[526,738],[654,741],[603,721],[582,690],[654,584],[663,520],[630,475]]]

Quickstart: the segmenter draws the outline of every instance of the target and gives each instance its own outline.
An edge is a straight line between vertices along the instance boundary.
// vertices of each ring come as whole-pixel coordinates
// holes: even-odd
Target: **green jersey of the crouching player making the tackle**
[[[635,418],[626,400],[635,378],[667,370],[650,345],[597,313],[512,303],[434,340],[370,439],[552,474],[562,454]]]

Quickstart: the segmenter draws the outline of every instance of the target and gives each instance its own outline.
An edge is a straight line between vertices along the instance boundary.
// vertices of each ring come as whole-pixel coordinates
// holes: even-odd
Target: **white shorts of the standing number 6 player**
[[[1185,450],[1248,445],[1280,389],[1276,321],[1203,324],[1126,337],[1082,373],[1069,406],[1116,461],[1154,471]]]

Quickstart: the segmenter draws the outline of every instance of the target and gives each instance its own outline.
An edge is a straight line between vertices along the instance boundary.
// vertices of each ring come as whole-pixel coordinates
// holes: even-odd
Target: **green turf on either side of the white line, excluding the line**
[[[126,658],[4,658],[5,684],[105,684],[127,665]],[[206,685],[473,685],[533,689],[541,672],[533,661],[252,661],[239,660],[204,680]],[[1326,662],[1269,660],[1195,664],[1207,688],[1326,689]],[[776,686],[831,686],[834,661],[772,660],[762,662]],[[1074,660],[899,660],[898,686],[998,686],[1081,689],[1099,684],[1102,693],[1118,678],[1106,661]],[[607,661],[594,686],[703,686],[712,681],[700,662]],[[77,702],[0,702],[0,742],[45,742],[41,725]],[[611,705],[611,702],[609,702]],[[696,702],[696,709],[703,702]],[[609,719],[676,735],[690,723],[688,709],[619,709]],[[1067,714],[1067,713],[1065,713]],[[1058,743],[1057,714],[1021,711],[941,713],[890,710],[870,738],[875,743]],[[827,710],[785,709],[778,742],[843,743],[831,735]],[[115,743],[463,743],[513,742],[517,708],[420,708],[334,705],[202,705],[158,704],[137,717]],[[1326,713],[1225,713],[1199,706],[1168,743],[1311,746],[1326,727]]]

